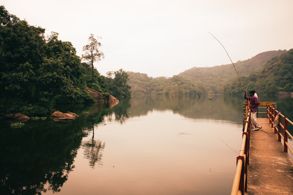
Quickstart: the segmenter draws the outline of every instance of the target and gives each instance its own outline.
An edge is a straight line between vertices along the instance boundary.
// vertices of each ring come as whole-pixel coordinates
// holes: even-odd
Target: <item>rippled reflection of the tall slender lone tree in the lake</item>
[[[96,163],[98,163],[98,166],[102,166],[103,162],[102,156],[103,156],[103,150],[105,148],[105,142],[102,143],[102,141],[95,140],[94,139],[94,127],[93,127],[93,137],[90,140],[83,141],[81,144],[81,148],[84,149],[84,157],[86,159],[89,159],[89,165],[92,168],[95,168]]]

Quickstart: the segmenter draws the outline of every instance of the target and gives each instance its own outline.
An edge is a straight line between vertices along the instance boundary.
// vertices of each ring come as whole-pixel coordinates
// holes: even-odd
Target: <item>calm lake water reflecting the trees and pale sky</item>
[[[277,101],[292,119],[291,97]],[[230,194],[243,97],[134,96],[60,106],[69,122],[1,122],[0,194]]]

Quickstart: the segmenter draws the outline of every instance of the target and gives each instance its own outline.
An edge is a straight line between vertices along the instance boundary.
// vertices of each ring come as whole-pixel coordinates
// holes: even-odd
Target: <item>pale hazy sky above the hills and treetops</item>
[[[231,64],[293,48],[292,0],[1,0],[28,24],[59,33],[77,55],[90,34],[102,37],[97,70],[152,77]],[[231,67],[233,68],[233,66]]]

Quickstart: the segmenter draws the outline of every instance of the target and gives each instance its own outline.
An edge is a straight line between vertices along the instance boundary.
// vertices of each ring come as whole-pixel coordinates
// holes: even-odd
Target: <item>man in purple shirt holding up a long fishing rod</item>
[[[257,112],[257,108],[259,105],[259,101],[258,101],[258,97],[257,95],[255,96],[255,91],[252,90],[249,92],[249,96],[246,96],[246,90],[244,89],[244,99],[246,99],[247,101],[249,101],[249,107],[251,108],[251,130],[252,131],[257,131],[261,129],[261,126],[258,125],[257,121],[256,121],[256,112]]]

